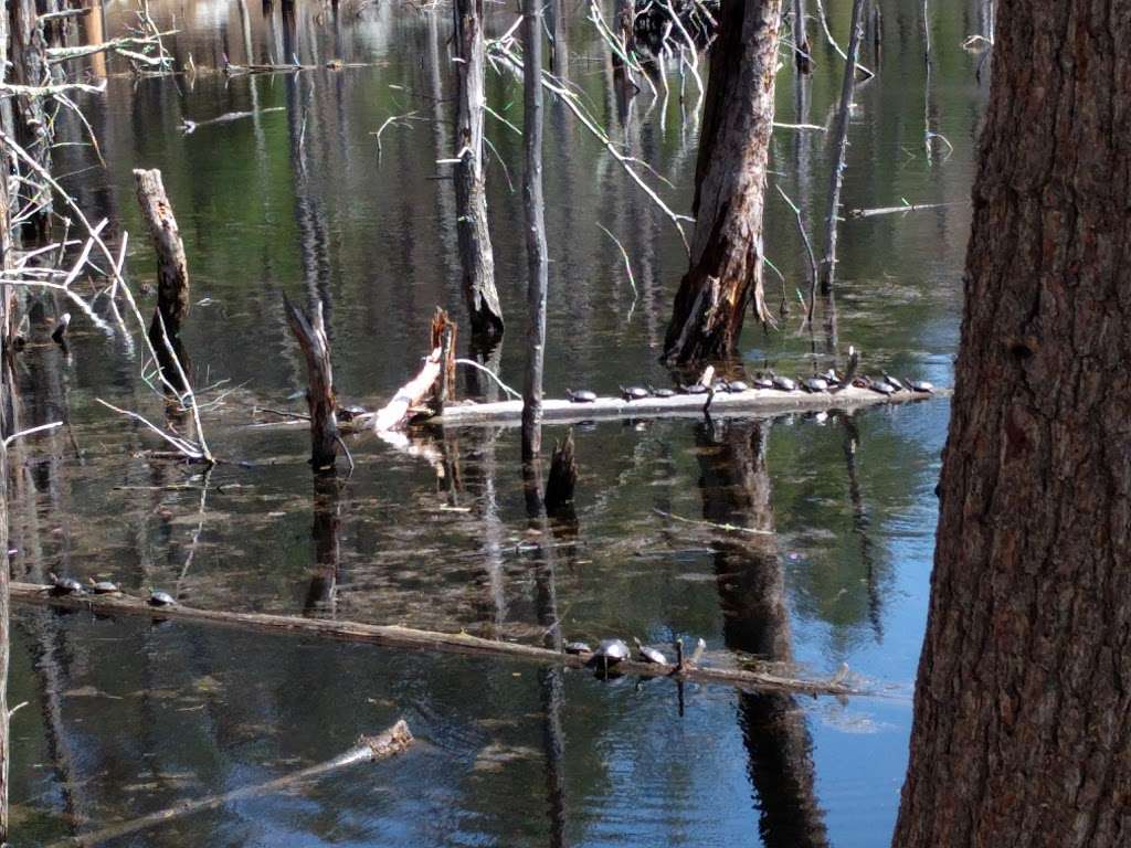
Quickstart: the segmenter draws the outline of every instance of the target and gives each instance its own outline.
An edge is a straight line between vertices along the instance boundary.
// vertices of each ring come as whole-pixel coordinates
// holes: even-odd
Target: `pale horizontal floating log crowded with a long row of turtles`
[[[820,412],[828,409],[854,409],[879,404],[903,404],[909,400],[927,400],[948,395],[944,389],[933,393],[925,391],[899,391],[880,395],[871,389],[852,386],[836,393],[778,391],[777,389],[750,389],[739,392],[717,392],[710,401],[711,415],[784,415],[787,413]],[[656,418],[656,417],[701,417],[707,407],[707,395],[675,395],[670,398],[645,398],[623,400],[621,398],[597,398],[590,404],[575,404],[569,400],[542,401],[542,419],[547,423],[576,423],[596,418]],[[501,400],[494,404],[449,404],[442,415],[429,418],[444,426],[468,424],[518,424],[523,417],[523,401]]]

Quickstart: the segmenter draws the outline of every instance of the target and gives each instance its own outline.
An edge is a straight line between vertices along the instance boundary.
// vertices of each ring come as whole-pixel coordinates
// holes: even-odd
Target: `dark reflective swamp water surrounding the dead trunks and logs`
[[[831,0],[847,41],[851,3]],[[979,3],[930,9],[930,85],[922,6],[884,5],[882,57],[860,89],[845,207],[950,204],[848,219],[841,230],[836,351],[869,367],[952,381],[965,204],[983,89]],[[282,294],[321,301],[335,378],[377,405],[412,373],[437,305],[463,318],[454,201],[438,158],[451,155],[449,14],[409,6],[163,2],[166,46],[201,69],[223,62],[340,58],[372,67],[225,79],[112,76],[84,107],[107,167],[62,148],[60,172],[92,216],[129,231],[135,288],[154,261],[130,170],[159,167],[192,275],[185,344],[206,392],[208,479],[141,451],[144,430],[104,398],[159,415],[120,338],[81,320],[69,360],[50,343],[20,358],[24,426],[66,418],[12,453],[16,579],[49,571],[163,587],[214,608],[271,611],[459,630],[539,642],[675,637],[708,643],[711,663],[751,656],[814,675],[847,663],[883,696],[830,699],[687,685],[601,682],[580,672],[236,631],[61,615],[17,607],[10,701],[12,831],[49,843],[100,825],[286,775],[404,716],[409,753],[336,772],[301,791],[252,798],[110,845],[767,845],[875,846],[889,840],[906,763],[910,692],[925,622],[934,483],[948,405],[934,400],[852,417],[604,423],[576,431],[577,526],[556,527],[549,562],[530,553],[511,429],[422,434],[416,453],[355,438],[353,477],[314,492],[308,440],[256,429],[256,404],[297,409],[301,355]],[[696,128],[675,95],[642,93],[627,111],[588,8],[553,3],[566,72],[611,135],[690,205]],[[605,9],[606,16],[610,10]],[[129,11],[112,8],[111,33]],[[500,6],[492,32],[513,12]],[[840,64],[811,28],[818,70],[798,89],[788,55],[778,120],[831,122]],[[112,66],[113,70],[113,66]],[[521,122],[520,87],[490,72],[489,103]],[[687,93],[694,101],[693,83]],[[200,127],[231,111],[274,110]],[[387,118],[407,126],[372,135]],[[551,256],[546,389],[664,384],[656,362],[685,267],[671,226],[560,106],[546,110]],[[942,133],[948,144],[925,130]],[[494,119],[489,165],[499,288],[510,331],[499,353],[520,382],[525,254],[520,139]],[[952,149],[951,149],[952,148]],[[770,182],[802,202],[814,230],[831,145],[780,130]],[[766,249],[785,275],[789,314],[748,325],[743,363],[783,370],[834,362],[823,329],[798,334],[804,260],[771,189]],[[608,227],[629,251],[634,296]],[[768,300],[782,298],[767,274]],[[152,301],[146,301],[152,308]],[[48,310],[53,309],[48,304]],[[42,334],[44,327],[37,328]],[[815,351],[815,353],[814,353]],[[463,387],[475,391],[473,381]],[[561,429],[547,427],[547,441]],[[772,528],[715,531],[668,516]],[[751,540],[753,539],[753,540]]]

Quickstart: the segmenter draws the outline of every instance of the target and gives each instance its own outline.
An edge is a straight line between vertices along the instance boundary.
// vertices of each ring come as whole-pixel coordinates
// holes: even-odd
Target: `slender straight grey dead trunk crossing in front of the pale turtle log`
[[[542,451],[542,365],[546,348],[546,224],[542,197],[542,6],[523,0],[523,213],[526,219],[526,302],[530,311],[523,382],[523,461]]]

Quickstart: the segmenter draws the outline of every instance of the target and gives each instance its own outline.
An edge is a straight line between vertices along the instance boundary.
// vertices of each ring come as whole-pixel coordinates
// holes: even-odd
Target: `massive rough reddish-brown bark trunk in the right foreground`
[[[1131,842],[1131,16],[999,6],[893,845]]]

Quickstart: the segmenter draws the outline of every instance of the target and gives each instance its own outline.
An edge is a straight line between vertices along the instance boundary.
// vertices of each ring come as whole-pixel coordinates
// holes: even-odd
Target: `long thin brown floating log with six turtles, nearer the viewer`
[[[188,606],[149,606],[140,598],[128,595],[62,595],[51,592],[50,586],[40,583],[11,583],[11,599],[24,604],[46,604],[68,609],[87,609],[98,615],[138,615],[150,618],[218,624],[265,633],[292,633],[320,637],[348,642],[368,642],[398,648],[475,654],[509,659],[523,659],[543,665],[584,667],[590,654],[560,654],[547,648],[537,648],[517,642],[500,642],[482,639],[468,633],[440,633],[399,624],[364,624],[362,622],[304,618],[296,615],[274,615],[268,613],[233,613],[218,609],[200,609]],[[811,695],[862,695],[869,692],[853,689],[844,682],[805,680],[789,677],[770,668],[711,668],[663,663],[637,663],[625,660],[616,670],[640,677],[677,677],[700,683],[720,683],[753,691],[795,692]]]

